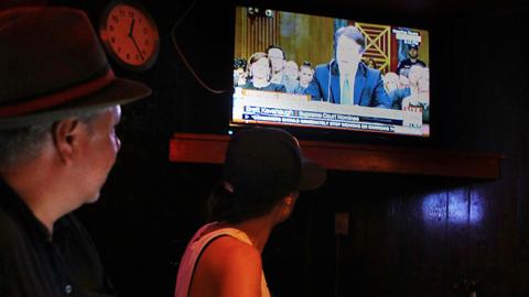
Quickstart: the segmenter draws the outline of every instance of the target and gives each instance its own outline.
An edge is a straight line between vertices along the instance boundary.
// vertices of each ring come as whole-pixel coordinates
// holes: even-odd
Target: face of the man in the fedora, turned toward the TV
[[[84,178],[79,188],[83,204],[97,201],[99,190],[116,162],[121,142],[116,135],[115,128],[120,118],[121,109],[115,106],[97,114],[89,123],[82,123],[86,125],[84,138],[80,140],[83,155],[78,162],[78,174]]]

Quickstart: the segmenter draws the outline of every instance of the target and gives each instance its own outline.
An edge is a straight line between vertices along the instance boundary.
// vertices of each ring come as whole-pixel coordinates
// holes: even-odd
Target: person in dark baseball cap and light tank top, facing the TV
[[[290,217],[300,191],[319,188],[325,177],[289,132],[238,131],[228,144],[223,180],[209,197],[209,223],[182,257],[175,297],[270,296],[261,264],[268,238]]]

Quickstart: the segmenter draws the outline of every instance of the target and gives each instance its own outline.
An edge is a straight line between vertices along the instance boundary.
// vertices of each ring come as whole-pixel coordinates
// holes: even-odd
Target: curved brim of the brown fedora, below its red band
[[[52,122],[65,119],[79,112],[90,112],[98,109],[126,105],[151,95],[152,90],[138,81],[116,78],[104,89],[78,98],[68,105],[41,110],[35,113],[0,119],[0,130],[17,129],[41,122]]]

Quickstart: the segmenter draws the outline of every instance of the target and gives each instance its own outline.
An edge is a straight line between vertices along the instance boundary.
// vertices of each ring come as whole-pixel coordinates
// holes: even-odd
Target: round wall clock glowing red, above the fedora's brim
[[[151,67],[160,51],[156,24],[136,4],[111,3],[102,15],[99,35],[110,56],[129,69]]]

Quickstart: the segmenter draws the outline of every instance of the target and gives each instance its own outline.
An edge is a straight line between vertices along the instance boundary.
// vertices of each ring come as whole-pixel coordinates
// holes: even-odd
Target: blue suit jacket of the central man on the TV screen
[[[339,70],[338,64],[333,59],[328,64],[316,66],[314,78],[305,90],[312,96],[312,100],[339,101]],[[358,64],[355,76],[354,105],[364,107],[391,108],[391,100],[384,88],[382,77],[379,70],[367,67],[364,63]]]

